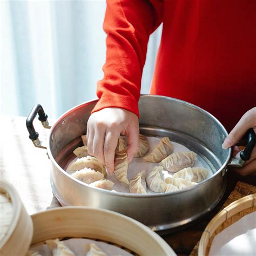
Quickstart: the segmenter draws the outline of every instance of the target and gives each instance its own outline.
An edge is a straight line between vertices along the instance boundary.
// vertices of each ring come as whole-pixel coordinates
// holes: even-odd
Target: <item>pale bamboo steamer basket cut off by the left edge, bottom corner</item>
[[[25,255],[28,251],[33,234],[31,217],[28,212],[26,212],[14,186],[0,181],[0,192],[9,194],[13,207],[13,215],[8,232],[6,232],[3,240],[0,242],[0,255]],[[4,204],[1,205],[2,209],[4,207]],[[1,219],[2,217],[3,215],[0,214]]]

